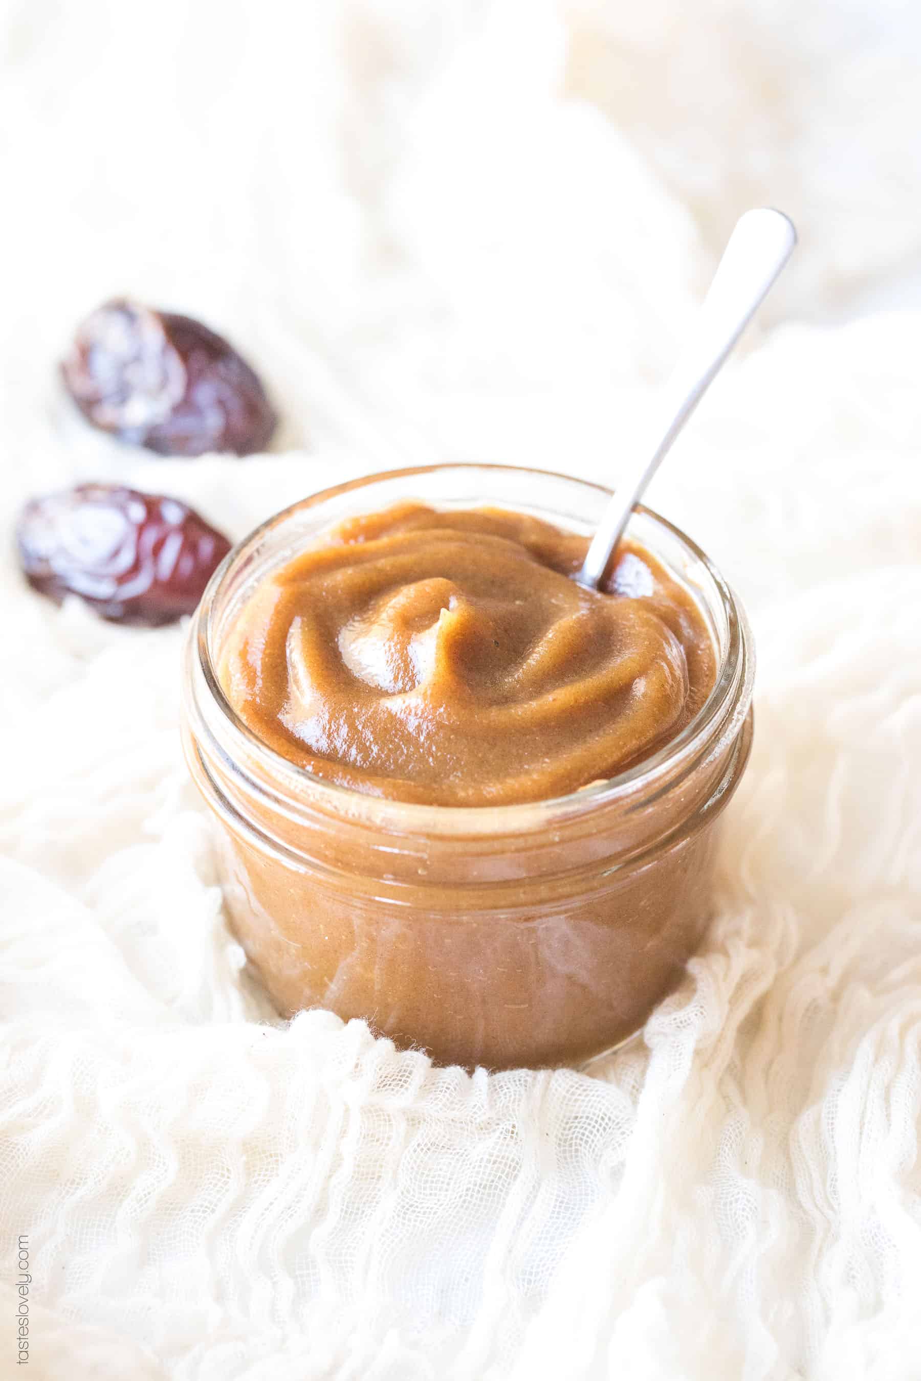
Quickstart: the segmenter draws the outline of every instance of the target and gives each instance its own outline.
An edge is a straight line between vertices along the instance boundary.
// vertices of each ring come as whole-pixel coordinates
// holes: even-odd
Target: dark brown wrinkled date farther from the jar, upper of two
[[[77,327],[61,371],[95,427],[160,456],[249,456],[275,431],[258,376],[191,316],[105,302]]]

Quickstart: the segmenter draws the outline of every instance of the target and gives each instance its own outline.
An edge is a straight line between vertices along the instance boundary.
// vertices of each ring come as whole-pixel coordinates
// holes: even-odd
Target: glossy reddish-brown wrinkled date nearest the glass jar
[[[192,613],[231,543],[177,499],[77,485],[30,500],[17,526],[29,584],[58,603],[155,627]]]

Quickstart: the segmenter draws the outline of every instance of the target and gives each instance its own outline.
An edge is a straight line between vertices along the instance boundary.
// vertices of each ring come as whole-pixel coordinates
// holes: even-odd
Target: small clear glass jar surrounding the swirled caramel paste
[[[269,750],[215,674],[254,586],[333,523],[420,500],[590,533],[608,497],[504,465],[371,475],[271,518],[215,572],[189,631],[184,743],[221,824],[232,928],[279,1012],[359,1016],[439,1063],[581,1065],[681,981],[711,917],[719,816],[748,758],[753,649],[726,583],[663,518],[638,510],[631,536],[696,599],[717,682],[664,749],[569,795],[454,808],[336,786]]]

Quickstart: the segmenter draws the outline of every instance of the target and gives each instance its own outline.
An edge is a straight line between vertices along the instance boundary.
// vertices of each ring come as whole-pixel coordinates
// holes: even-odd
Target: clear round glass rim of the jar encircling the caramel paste
[[[660,783],[664,784],[667,782],[668,786],[677,784],[700,761],[710,757],[711,753],[718,751],[719,744],[725,742],[724,731],[728,729],[732,732],[741,724],[751,700],[754,652],[748,621],[730,586],[707,554],[675,523],[645,504],[638,504],[634,514],[639,512],[652,518],[659,528],[677,539],[679,545],[695,561],[703,565],[718,592],[726,620],[726,644],[719,655],[717,678],[710,695],[684,729],[648,758],[642,758],[631,768],[612,778],[543,801],[523,801],[505,805],[424,805],[416,801],[399,801],[389,797],[371,795],[330,782],[311,772],[309,768],[289,761],[260,739],[231,704],[214,664],[215,601],[224,581],[247,552],[257,547],[272,529],[280,528],[295,512],[318,507],[374,482],[446,471],[463,471],[468,474],[504,471],[522,476],[539,475],[547,479],[565,481],[581,489],[591,489],[605,500],[612,494],[612,490],[605,485],[566,475],[561,471],[537,470],[527,465],[450,461],[436,465],[411,465],[400,470],[377,471],[371,475],[349,479],[341,485],[318,490],[318,493],[289,504],[265,519],[265,522],[260,523],[236,543],[217,568],[192,616],[189,628],[189,655],[193,663],[197,663],[197,670],[204,681],[211,704],[218,711],[221,737],[224,740],[221,743],[221,755],[225,761],[236,762],[243,754],[249,754],[268,779],[272,780],[273,786],[282,783],[286,787],[286,802],[293,809],[297,809],[297,805],[302,802],[305,807],[309,804],[315,808],[324,808],[330,815],[348,815],[352,819],[359,816],[366,823],[373,823],[377,829],[389,829],[399,834],[423,833],[457,837],[518,834],[526,829],[545,826],[554,819],[565,819],[595,808],[609,807],[619,800],[628,800],[637,794],[643,794],[645,797],[648,790],[655,791]],[[202,724],[200,714],[196,715],[196,720]],[[235,747],[242,750],[242,753],[235,753]]]

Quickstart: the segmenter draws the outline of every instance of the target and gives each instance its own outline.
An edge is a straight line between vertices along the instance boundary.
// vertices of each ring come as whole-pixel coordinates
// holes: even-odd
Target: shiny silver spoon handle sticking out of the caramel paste
[[[692,340],[666,384],[650,445],[639,452],[637,464],[617,485],[576,576],[580,584],[597,588],[646,485],[770,291],[795,243],[793,221],[782,211],[758,207],[736,222]]]

